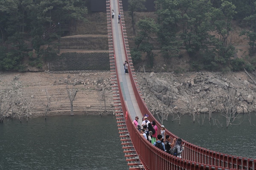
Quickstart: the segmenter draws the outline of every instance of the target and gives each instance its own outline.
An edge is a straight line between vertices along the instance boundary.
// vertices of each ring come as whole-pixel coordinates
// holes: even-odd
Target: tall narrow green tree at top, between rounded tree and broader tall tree
[[[157,38],[160,43],[162,56],[169,58],[178,56],[181,42],[177,41],[177,24],[181,19],[177,0],[156,0],[156,14],[158,32]]]

